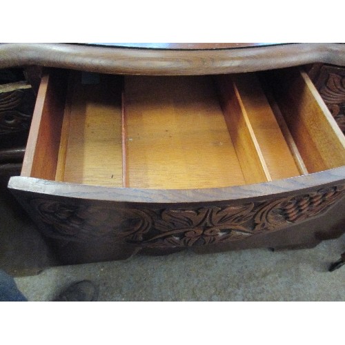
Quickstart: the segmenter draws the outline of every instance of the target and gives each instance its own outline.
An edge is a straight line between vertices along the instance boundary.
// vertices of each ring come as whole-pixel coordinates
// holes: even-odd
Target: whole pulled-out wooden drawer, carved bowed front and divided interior
[[[299,68],[52,70],[9,188],[50,237],[164,251],[322,219],[344,197],[344,166],[344,135]]]

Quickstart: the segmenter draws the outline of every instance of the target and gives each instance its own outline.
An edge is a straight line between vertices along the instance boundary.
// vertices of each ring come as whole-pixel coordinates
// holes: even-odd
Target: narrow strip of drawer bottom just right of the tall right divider
[[[272,180],[300,175],[293,155],[256,75],[233,75],[255,138]]]

